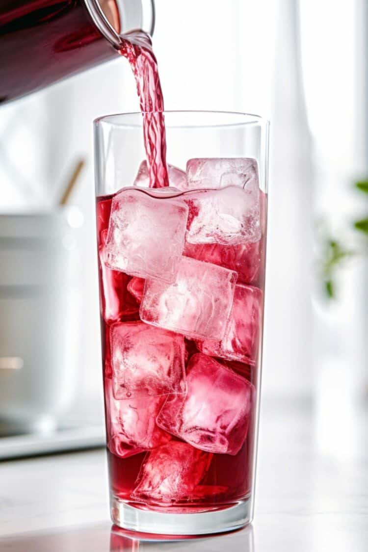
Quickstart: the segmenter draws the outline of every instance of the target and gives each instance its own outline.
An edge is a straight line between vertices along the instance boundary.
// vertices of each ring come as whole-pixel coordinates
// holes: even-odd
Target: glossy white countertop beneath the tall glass
[[[366,552],[368,414],[335,407],[322,420],[305,404],[263,407],[254,522],[215,537],[154,543],[121,534],[110,549],[104,450],[3,462],[0,550]]]

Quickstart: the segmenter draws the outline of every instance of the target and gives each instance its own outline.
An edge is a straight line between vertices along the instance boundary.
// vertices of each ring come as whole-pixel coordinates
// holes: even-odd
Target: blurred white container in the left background
[[[76,395],[82,222],[73,206],[0,214],[0,437],[54,432]]]

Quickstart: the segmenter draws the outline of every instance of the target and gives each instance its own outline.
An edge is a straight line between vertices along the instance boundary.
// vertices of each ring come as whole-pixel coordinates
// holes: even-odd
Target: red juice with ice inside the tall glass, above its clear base
[[[97,198],[110,485],[137,508],[211,511],[252,491],[266,196],[257,173],[199,187],[229,164],[252,160],[194,159],[184,191],[138,180]]]

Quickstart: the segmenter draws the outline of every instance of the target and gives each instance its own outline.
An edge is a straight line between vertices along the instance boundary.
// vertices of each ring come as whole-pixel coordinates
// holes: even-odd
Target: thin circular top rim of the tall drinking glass
[[[237,116],[238,118],[243,118],[242,121],[237,122],[225,122],[225,123],[215,123],[215,124],[166,124],[167,128],[172,129],[190,129],[190,128],[198,128],[198,129],[205,129],[205,128],[225,128],[229,126],[268,126],[270,124],[270,121],[266,119],[265,117],[262,117],[260,115],[256,115],[253,113],[245,113],[245,112],[237,112],[237,111],[223,111],[223,110],[212,110],[212,109],[168,109],[164,110],[162,112],[158,111],[152,111],[152,112],[126,112],[126,113],[113,113],[110,115],[101,115],[93,120],[94,126],[97,128],[97,126],[100,123],[107,124],[110,126],[116,126],[119,128],[124,129],[137,129],[141,128],[142,126],[142,119],[137,123],[132,123],[131,121],[125,123],[124,119],[129,118],[131,116],[142,116],[142,115],[152,115],[152,114],[163,114],[163,115],[169,115],[169,114],[177,114],[177,115],[220,115],[220,116]],[[249,119],[249,120],[247,120]]]

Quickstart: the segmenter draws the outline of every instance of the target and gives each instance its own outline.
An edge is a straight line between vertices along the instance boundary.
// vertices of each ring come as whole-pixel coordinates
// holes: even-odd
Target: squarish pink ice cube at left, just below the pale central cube
[[[143,322],[110,328],[115,399],[185,391],[184,338]]]

